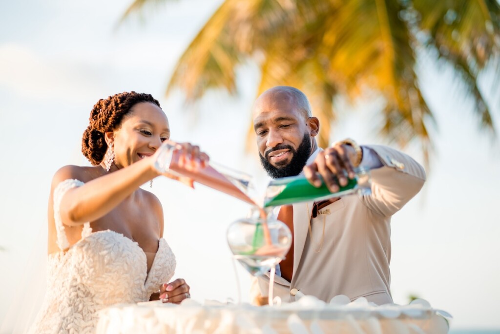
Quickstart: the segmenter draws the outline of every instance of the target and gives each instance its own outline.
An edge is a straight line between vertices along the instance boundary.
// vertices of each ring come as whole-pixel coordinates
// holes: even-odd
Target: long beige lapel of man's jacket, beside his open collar
[[[293,237],[295,238],[293,242],[293,273],[292,281],[295,278],[295,273],[297,272],[298,263],[300,262],[300,257],[302,256],[302,251],[304,249],[305,238],[307,237],[307,230],[309,227],[309,221],[307,218],[311,216],[313,201],[306,203],[296,203],[293,204]],[[309,210],[307,211],[307,206]]]

